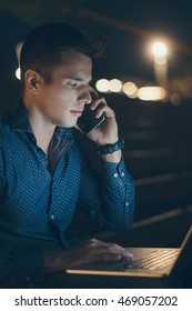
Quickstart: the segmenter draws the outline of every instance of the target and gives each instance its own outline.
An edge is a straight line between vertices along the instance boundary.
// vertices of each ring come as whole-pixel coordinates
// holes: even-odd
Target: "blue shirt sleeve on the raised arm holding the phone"
[[[131,228],[134,211],[134,183],[124,160],[101,161],[101,174],[87,167],[83,171],[80,208],[102,228],[125,231]]]

